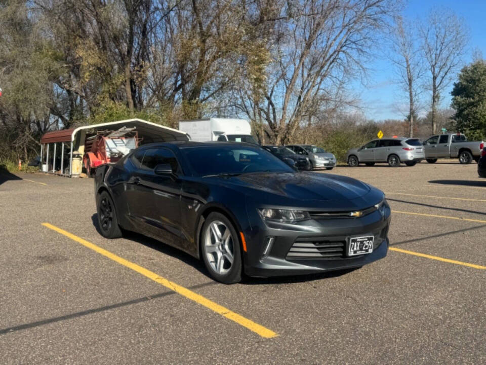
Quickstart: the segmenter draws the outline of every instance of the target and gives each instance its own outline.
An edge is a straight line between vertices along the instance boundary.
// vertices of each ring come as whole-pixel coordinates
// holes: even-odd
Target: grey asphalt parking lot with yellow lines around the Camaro
[[[1,173],[2,364],[486,363],[476,164],[331,172],[386,193],[387,257],[234,285],[144,236],[104,239],[92,179]]]

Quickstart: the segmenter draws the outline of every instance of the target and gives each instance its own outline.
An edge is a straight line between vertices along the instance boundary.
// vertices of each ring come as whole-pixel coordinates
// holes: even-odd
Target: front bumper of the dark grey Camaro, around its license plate
[[[360,218],[311,219],[297,224],[264,223],[261,220],[258,227],[252,224],[251,233],[246,234],[248,251],[244,261],[245,272],[250,276],[268,277],[361,267],[386,256],[389,226],[388,206],[384,215],[374,211]],[[350,238],[368,235],[375,237],[373,252],[348,257]],[[275,238],[267,257],[263,258],[268,237]],[[333,252],[322,254],[322,257],[316,257],[316,254],[299,257],[299,253],[296,257],[295,251],[299,249],[293,248],[294,244],[302,246],[303,242],[306,242],[306,246],[316,247],[311,249],[312,252],[320,252],[328,244],[330,247],[339,246],[342,249],[324,249],[325,252]]]

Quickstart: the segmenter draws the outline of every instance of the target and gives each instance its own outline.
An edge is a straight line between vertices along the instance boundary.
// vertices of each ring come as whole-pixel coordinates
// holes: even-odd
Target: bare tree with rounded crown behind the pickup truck
[[[430,71],[427,83],[432,93],[432,133],[437,129],[440,93],[451,83],[468,42],[464,20],[453,11],[436,8],[419,27],[422,52]]]

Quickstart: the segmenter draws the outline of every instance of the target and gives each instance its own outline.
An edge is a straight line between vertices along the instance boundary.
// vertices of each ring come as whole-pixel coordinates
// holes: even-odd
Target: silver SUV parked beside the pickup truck
[[[389,166],[414,166],[425,158],[424,147],[417,138],[374,139],[358,149],[348,151],[346,160],[351,167],[365,163],[373,166],[375,162],[387,162]]]

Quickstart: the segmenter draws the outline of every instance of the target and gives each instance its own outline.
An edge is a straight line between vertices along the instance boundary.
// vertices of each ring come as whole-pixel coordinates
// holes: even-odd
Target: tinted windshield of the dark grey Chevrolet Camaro
[[[197,176],[249,172],[294,172],[268,151],[249,145],[186,147],[181,152]]]

